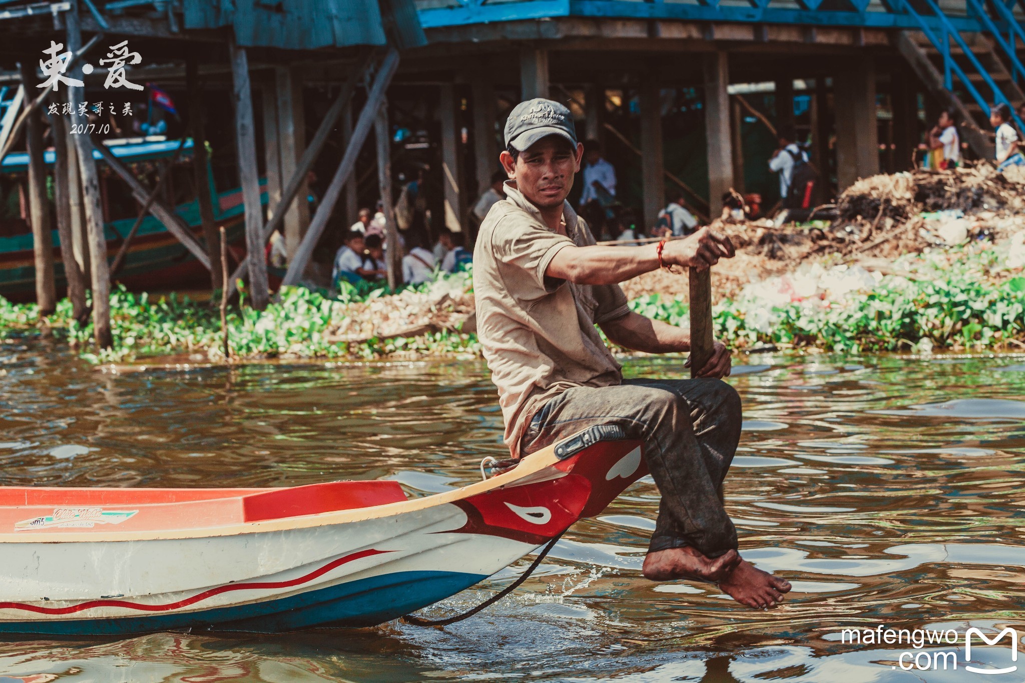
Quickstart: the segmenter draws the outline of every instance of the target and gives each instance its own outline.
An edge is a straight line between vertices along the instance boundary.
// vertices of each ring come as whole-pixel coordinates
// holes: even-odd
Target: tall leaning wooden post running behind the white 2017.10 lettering
[[[79,24],[78,3],[72,0],[71,9],[65,12],[68,26],[68,49],[78,50],[82,44],[82,29]],[[74,67],[73,78],[82,79],[82,68]],[[82,101],[82,88],[69,88],[71,103],[71,124],[82,126],[85,117],[78,115]],[[81,130],[81,128],[79,128]],[[92,158],[92,143],[88,133],[72,135],[78,153],[78,170],[82,181],[82,205],[86,226],[86,243],[89,251],[89,266],[92,280],[92,336],[96,346],[109,348],[111,336],[111,273],[107,266],[107,238],[104,234],[104,211],[100,207],[99,175],[96,162]]]

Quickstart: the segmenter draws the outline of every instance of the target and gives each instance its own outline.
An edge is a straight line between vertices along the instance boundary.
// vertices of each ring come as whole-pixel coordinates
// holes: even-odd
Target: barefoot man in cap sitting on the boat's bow
[[[741,559],[720,498],[740,439],[740,398],[721,380],[730,351],[716,342],[699,379],[624,380],[594,329],[638,351],[689,351],[688,330],[631,312],[617,283],[663,266],[709,267],[733,245],[709,228],[642,247],[596,245],[566,201],[583,146],[558,102],[518,104],[505,147],[505,199],[481,224],[474,291],[512,457],[592,425],[621,426],[644,442],[662,494],[645,577],[713,582],[745,605],[779,604],[790,585]]]

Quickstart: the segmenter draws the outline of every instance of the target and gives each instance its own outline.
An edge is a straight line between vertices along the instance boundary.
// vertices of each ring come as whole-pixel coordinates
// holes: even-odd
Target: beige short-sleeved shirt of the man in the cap
[[[530,418],[549,398],[574,386],[622,381],[594,325],[629,312],[623,291],[544,276],[561,249],[594,244],[569,203],[563,218],[566,234],[548,229],[509,180],[505,199],[481,223],[474,250],[477,334],[498,387],[514,457]]]

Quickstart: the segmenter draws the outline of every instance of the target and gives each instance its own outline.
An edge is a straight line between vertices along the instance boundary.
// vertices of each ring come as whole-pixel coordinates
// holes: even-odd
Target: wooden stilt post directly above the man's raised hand
[[[723,195],[733,186],[733,153],[730,151],[730,83],[726,52],[704,55],[705,136],[708,154],[708,216],[723,213]]]

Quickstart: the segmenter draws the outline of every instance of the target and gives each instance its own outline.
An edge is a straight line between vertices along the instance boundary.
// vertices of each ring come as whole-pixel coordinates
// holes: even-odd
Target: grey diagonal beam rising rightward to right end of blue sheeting
[[[341,163],[338,164],[338,168],[334,172],[334,177],[331,178],[331,184],[328,185],[324,197],[321,199],[320,206],[317,207],[317,213],[314,214],[314,218],[310,222],[310,229],[306,231],[305,237],[302,238],[302,242],[295,252],[295,258],[288,264],[288,272],[285,273],[282,285],[296,284],[302,275],[306,264],[310,262],[310,258],[314,253],[314,247],[317,246],[317,241],[320,240],[320,236],[327,225],[328,218],[331,212],[334,211],[334,205],[338,201],[341,187],[353,174],[353,169],[356,167],[356,159],[367,139],[367,135],[370,133],[370,128],[373,126],[374,120],[377,118],[377,111],[381,102],[384,101],[385,90],[388,83],[392,82],[392,77],[395,75],[395,70],[398,67],[399,51],[395,48],[389,48],[380,67],[377,69],[373,86],[371,86],[370,92],[367,95],[367,102],[364,104],[363,111],[360,112],[360,118],[356,122],[356,129],[353,131],[353,139],[345,148]]]

